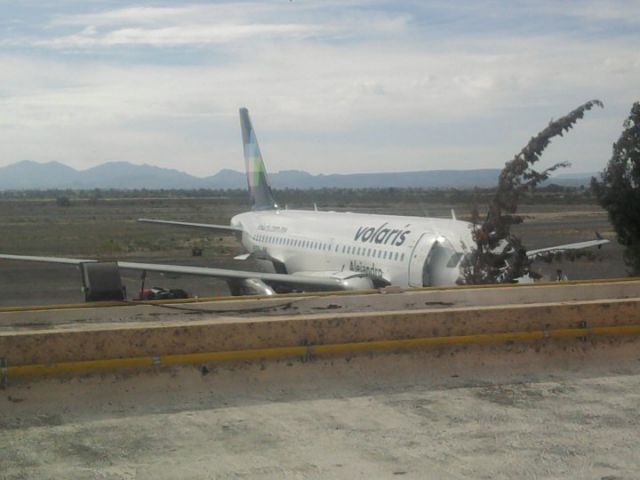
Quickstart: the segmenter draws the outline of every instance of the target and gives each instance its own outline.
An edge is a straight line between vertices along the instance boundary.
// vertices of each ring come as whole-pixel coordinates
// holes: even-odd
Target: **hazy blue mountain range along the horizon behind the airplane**
[[[470,188],[495,186],[499,169],[424,170],[416,172],[313,175],[302,170],[269,174],[271,185],[284,188]],[[549,183],[588,185],[592,174],[564,174]],[[45,189],[236,189],[246,188],[244,172],[223,169],[209,177],[195,177],[178,170],[108,162],[76,170],[60,162],[30,160],[0,167],[0,190]]]

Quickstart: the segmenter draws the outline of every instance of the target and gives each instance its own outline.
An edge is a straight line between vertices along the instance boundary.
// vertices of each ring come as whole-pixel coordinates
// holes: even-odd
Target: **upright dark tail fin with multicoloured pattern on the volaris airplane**
[[[240,109],[240,127],[244,147],[244,164],[247,172],[247,184],[253,210],[273,210],[278,208],[271,193],[271,186],[264,168],[256,133],[249,119],[249,111]]]

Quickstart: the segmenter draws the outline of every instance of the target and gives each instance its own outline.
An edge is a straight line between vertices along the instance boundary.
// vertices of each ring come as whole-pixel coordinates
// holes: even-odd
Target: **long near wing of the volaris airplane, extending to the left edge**
[[[80,265],[95,263],[93,259],[41,257],[28,255],[0,254],[0,259],[44,263],[63,263]],[[302,290],[352,290],[368,286],[368,277],[358,272],[307,272],[306,274],[266,273],[225,268],[193,267],[185,265],[163,265],[157,263],[138,263],[117,261],[118,267],[125,270],[144,270],[148,272],[172,273],[215,277],[227,281],[260,280],[269,285],[287,285]],[[367,283],[363,284],[362,280]],[[369,287],[370,288],[370,287]]]

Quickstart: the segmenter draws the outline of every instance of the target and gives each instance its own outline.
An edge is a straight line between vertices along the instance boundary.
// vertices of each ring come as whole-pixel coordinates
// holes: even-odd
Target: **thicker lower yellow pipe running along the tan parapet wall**
[[[117,370],[123,368],[151,367],[159,365],[184,365],[208,362],[250,361],[282,359],[305,356],[345,355],[375,351],[409,350],[433,346],[482,345],[517,341],[538,341],[547,338],[582,338],[593,336],[640,335],[640,325],[618,327],[570,328],[537,330],[533,332],[488,333],[448,337],[422,337],[403,340],[380,340],[327,345],[275,347],[224,352],[190,353],[178,355],[88,360],[55,364],[9,366],[4,369],[8,377],[33,375],[57,375],[64,373]]]

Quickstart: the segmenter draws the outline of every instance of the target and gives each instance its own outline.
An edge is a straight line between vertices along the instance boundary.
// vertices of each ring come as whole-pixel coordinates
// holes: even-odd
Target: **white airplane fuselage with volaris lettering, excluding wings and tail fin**
[[[473,245],[472,225],[453,219],[265,210],[236,215],[231,225],[242,227],[250,253],[276,269],[362,272],[400,287],[455,284]]]

